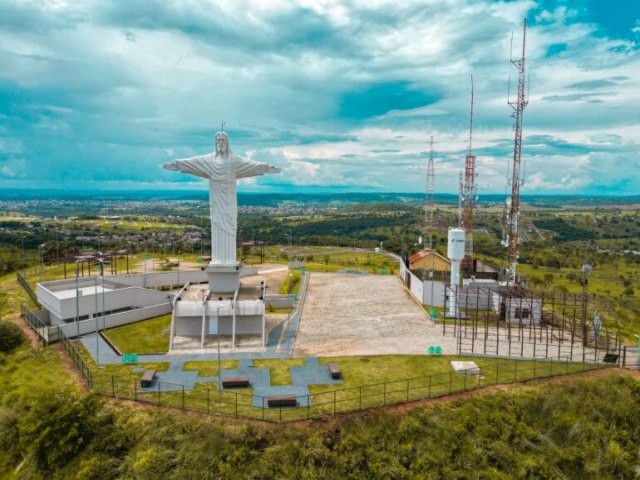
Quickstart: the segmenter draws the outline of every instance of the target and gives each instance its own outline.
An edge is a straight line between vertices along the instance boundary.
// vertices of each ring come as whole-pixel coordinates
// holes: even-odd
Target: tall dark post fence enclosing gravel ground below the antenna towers
[[[622,349],[619,325],[609,310],[586,295],[536,295],[514,287],[449,289],[442,334],[457,337],[460,355],[600,362]]]

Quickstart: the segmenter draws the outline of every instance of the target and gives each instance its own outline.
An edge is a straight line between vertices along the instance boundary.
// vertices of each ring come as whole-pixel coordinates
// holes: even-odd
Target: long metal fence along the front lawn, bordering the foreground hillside
[[[251,391],[238,389],[218,390],[215,385],[211,387],[197,384],[191,389],[184,385],[154,381],[151,387],[142,388],[139,376],[109,375],[101,372],[89,375],[88,382],[95,393],[104,396],[211,415],[283,423],[607,367],[602,364],[552,359],[485,362],[481,360],[484,359],[479,360],[481,374],[475,370],[450,371],[353,388],[328,389],[296,396],[296,406],[292,407],[269,407],[267,396],[253,395]]]

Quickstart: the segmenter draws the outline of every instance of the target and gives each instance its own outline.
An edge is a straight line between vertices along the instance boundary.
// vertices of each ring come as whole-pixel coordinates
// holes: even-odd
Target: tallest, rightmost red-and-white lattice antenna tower
[[[524,109],[529,103],[525,93],[525,45],[527,38],[527,19],[524,19],[522,29],[522,55],[519,59],[513,59],[513,36],[511,37],[512,54],[511,64],[518,69],[518,93],[514,101],[509,98],[507,103],[513,109],[513,130],[515,133],[513,144],[513,166],[511,169],[511,196],[507,199],[505,218],[507,235],[504,239],[507,247],[507,284],[515,284],[518,281],[518,229],[520,228],[520,186],[522,179],[520,169],[522,163],[522,119]]]

